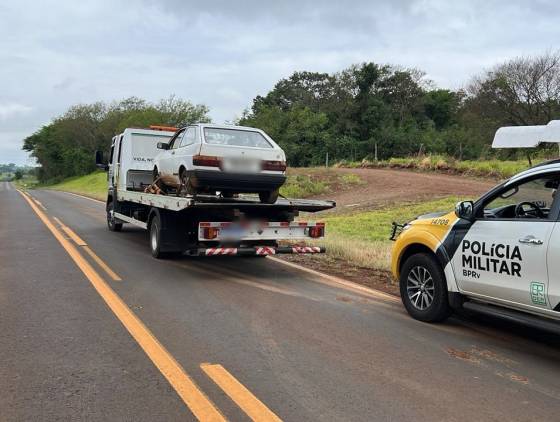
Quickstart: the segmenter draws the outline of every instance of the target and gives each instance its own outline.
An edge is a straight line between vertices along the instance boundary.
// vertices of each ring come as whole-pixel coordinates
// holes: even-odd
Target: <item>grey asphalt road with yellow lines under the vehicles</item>
[[[0,183],[2,421],[559,419],[554,336],[270,259],[157,261],[103,204],[29,194]]]

